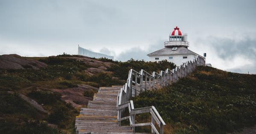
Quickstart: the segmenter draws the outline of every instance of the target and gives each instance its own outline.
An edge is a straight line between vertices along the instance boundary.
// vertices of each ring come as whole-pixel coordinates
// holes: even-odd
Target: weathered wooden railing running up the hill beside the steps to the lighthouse
[[[175,83],[179,78],[188,76],[197,66],[205,66],[203,57],[198,56],[198,58],[193,61],[189,61],[172,70],[167,68],[166,71],[160,71],[159,74],[157,72],[149,74],[143,69],[141,69],[140,72],[131,69],[128,74],[127,82],[118,93],[116,109],[118,111],[119,125],[121,125],[122,120],[129,120],[134,132],[136,126],[150,125],[153,134],[163,134],[163,125],[166,125],[166,123],[163,121],[156,108],[154,106],[134,108],[132,98],[137,97],[145,90],[157,90],[171,83]],[[125,108],[128,108],[129,115],[122,117]],[[135,123],[136,114],[142,113],[151,114],[151,123]],[[155,123],[157,123],[160,132],[158,132]]]

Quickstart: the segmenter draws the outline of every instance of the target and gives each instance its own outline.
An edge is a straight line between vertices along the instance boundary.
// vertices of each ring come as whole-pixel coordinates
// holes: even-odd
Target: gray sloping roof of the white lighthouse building
[[[185,48],[183,46],[177,46],[177,50],[173,51],[172,48],[174,47],[165,47],[163,49],[154,51],[153,53],[148,54],[148,56],[153,55],[171,55],[171,54],[196,54],[195,52]],[[197,54],[199,55],[199,54]]]

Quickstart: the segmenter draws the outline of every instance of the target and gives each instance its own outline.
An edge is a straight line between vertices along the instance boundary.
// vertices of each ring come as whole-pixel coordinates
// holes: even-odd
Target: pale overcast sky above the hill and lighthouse
[[[0,55],[149,60],[175,26],[213,67],[256,73],[256,0],[0,0]]]

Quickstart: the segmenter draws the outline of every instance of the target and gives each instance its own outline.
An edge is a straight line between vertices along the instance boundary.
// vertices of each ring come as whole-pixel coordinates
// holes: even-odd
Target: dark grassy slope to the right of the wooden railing
[[[166,133],[225,134],[256,124],[256,75],[201,66],[172,86],[140,94],[134,103],[156,106]]]

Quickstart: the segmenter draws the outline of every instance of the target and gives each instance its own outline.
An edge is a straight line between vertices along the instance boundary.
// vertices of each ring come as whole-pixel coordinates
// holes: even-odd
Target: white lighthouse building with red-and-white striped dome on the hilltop
[[[187,34],[183,34],[177,26],[170,33],[169,41],[164,43],[164,47],[163,49],[148,54],[152,62],[167,60],[175,63],[176,66],[180,66],[187,61],[193,61],[198,56],[202,57],[188,49],[189,42],[187,41]]]

